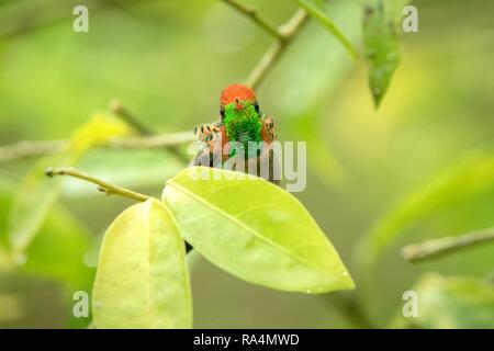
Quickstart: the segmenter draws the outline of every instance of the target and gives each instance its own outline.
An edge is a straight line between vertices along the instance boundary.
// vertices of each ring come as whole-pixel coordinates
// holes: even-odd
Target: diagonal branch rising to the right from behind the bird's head
[[[280,58],[281,54],[285,50],[288,45],[293,41],[293,38],[299,34],[301,27],[306,23],[308,16],[305,10],[299,9],[295,14],[283,25],[280,26],[278,31],[280,36],[277,42],[266,52],[266,54],[260,58],[258,64],[251,70],[249,77],[247,78],[246,84],[251,88],[256,88],[269,70],[272,68],[273,64]]]

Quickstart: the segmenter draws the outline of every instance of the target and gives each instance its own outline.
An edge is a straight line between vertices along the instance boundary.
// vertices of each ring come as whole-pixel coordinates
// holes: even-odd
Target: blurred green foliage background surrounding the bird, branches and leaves
[[[245,2],[276,23],[296,10],[295,1]],[[360,52],[363,2],[327,5]],[[72,31],[76,4],[89,8],[89,33]],[[295,195],[340,252],[356,291],[273,292],[229,276],[193,252],[194,327],[382,328],[393,326],[403,293],[426,272],[467,275],[473,285],[492,276],[492,245],[422,265],[400,257],[406,244],[494,222],[494,3],[414,4],[419,32],[402,35],[402,61],[379,111],[363,59],[352,63],[314,21],[257,89],[279,138],[307,141],[307,186]],[[192,131],[217,117],[220,91],[245,81],[271,42],[215,0],[0,1],[0,143],[67,138],[115,98],[160,133]],[[12,197],[34,161],[0,163],[2,251]],[[96,149],[78,163],[156,196],[182,167],[161,150]],[[445,180],[449,186],[441,189]],[[403,202],[409,203],[405,210]],[[0,269],[0,327],[85,327],[89,318],[70,317],[71,296],[90,292],[101,236],[130,204],[67,180],[25,262]],[[420,286],[429,282],[440,290],[446,278],[426,275]],[[460,291],[471,293],[469,286]],[[460,303],[449,298],[456,292],[436,291],[446,297],[435,295],[424,307],[431,308],[433,320],[422,326],[471,327],[493,317],[492,291],[461,295]],[[467,307],[452,314],[461,303]],[[434,308],[449,319],[434,320]],[[459,324],[473,308],[484,314]]]

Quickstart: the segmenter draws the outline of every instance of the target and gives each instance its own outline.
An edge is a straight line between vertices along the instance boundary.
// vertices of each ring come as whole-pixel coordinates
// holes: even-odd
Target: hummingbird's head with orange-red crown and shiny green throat
[[[261,112],[254,91],[243,84],[226,87],[220,98],[225,134],[232,141],[260,141]]]

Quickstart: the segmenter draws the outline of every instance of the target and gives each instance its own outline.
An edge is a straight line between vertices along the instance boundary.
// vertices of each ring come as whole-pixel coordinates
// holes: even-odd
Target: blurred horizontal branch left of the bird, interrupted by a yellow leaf
[[[188,144],[197,140],[192,132],[178,132],[151,136],[114,138],[101,147],[112,149],[149,149],[166,148]],[[69,140],[18,141],[12,145],[0,146],[0,162],[15,159],[52,155],[61,151]]]

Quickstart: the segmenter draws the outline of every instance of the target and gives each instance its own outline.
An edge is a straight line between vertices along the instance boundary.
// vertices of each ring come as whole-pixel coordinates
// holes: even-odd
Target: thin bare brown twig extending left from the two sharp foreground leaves
[[[47,168],[45,170],[45,174],[48,177],[69,176],[69,177],[81,179],[83,181],[87,181],[87,182],[98,185],[98,190],[106,193],[106,195],[120,195],[120,196],[128,197],[128,199],[132,199],[132,200],[135,200],[138,202],[143,202],[143,201],[146,201],[149,199],[149,196],[147,196],[147,195],[137,193],[135,191],[132,191],[132,190],[128,190],[125,188],[121,188],[121,186],[116,186],[116,185],[106,183],[105,181],[103,181],[101,179],[89,176],[89,174],[81,172],[72,167],[59,168],[59,169]]]

